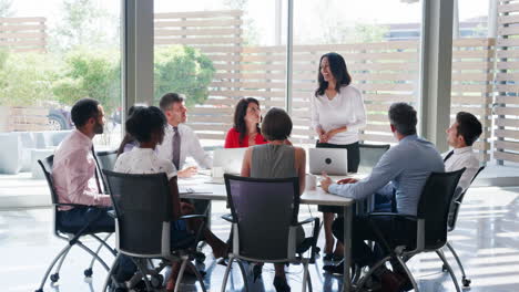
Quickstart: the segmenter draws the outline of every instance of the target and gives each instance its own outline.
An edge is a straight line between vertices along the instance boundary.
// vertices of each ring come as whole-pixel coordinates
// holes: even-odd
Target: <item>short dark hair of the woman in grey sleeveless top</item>
[[[267,140],[283,140],[291,136],[292,119],[278,107],[273,107],[263,118],[262,133]]]

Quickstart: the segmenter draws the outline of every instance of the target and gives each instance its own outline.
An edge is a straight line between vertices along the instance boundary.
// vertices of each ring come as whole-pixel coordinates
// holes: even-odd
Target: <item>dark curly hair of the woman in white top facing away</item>
[[[126,132],[139,143],[150,142],[153,133],[164,131],[166,118],[156,106],[136,107],[126,119]]]

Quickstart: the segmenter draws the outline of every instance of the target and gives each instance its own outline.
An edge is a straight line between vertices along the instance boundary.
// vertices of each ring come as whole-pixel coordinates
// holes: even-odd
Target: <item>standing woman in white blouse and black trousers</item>
[[[350,85],[344,58],[337,53],[320,56],[318,87],[311,98],[312,127],[318,135],[317,148],[345,148],[348,171],[356,173],[360,160],[358,131],[366,126],[366,109],[360,91]],[[339,242],[333,252],[332,223],[340,208],[319,206],[325,227],[325,260],[343,257]]]

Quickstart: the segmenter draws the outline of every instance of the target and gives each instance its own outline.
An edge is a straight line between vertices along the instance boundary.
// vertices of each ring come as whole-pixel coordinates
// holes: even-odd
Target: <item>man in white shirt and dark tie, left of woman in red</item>
[[[213,159],[204,152],[196,134],[184,123],[187,121],[187,108],[184,97],[176,93],[162,96],[160,107],[167,118],[167,127],[162,145],[157,145],[157,155],[173,161],[179,177],[191,177],[197,173],[195,166],[183,169],[186,156],[192,156],[199,166],[211,168]]]

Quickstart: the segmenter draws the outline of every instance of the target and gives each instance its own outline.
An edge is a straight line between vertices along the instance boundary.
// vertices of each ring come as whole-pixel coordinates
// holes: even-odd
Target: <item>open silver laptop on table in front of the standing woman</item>
[[[337,148],[309,148],[311,174],[320,175],[325,171],[330,176],[348,174],[348,150]]]

